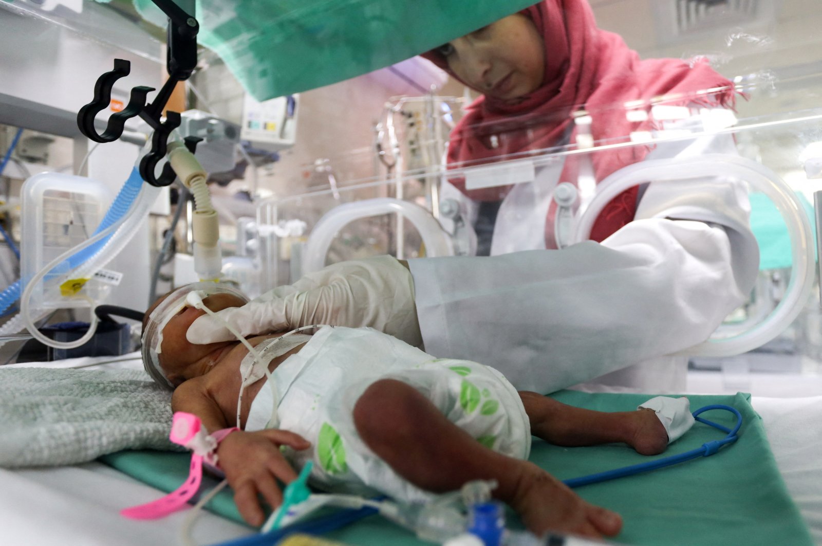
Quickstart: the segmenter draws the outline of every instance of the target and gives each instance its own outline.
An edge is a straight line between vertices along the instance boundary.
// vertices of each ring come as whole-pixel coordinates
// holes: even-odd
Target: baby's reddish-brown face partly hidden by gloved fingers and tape
[[[245,302],[233,294],[211,294],[203,298],[205,307],[217,312],[226,308],[242,307]],[[163,329],[162,352],[159,354],[159,364],[166,377],[174,386],[187,379],[201,375],[205,367],[192,366],[193,363],[204,359],[210,353],[231,341],[210,343],[208,345],[194,345],[186,339],[188,326],[197,318],[205,315],[202,309],[191,307],[182,308]]]

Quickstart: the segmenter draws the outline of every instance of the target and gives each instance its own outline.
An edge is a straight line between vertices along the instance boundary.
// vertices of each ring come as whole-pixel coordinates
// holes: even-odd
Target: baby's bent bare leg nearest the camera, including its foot
[[[495,496],[519,511],[534,533],[601,537],[621,529],[617,514],[584,502],[538,466],[484,447],[404,382],[369,386],[353,418],[367,446],[419,488],[442,493],[473,479],[496,479]]]

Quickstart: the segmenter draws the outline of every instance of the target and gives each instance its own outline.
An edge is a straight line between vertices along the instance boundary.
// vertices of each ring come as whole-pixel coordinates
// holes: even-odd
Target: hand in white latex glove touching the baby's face
[[[219,311],[242,335],[288,331],[312,324],[371,326],[409,345],[423,344],[411,272],[394,257],[341,261],[279,286],[241,308]],[[186,338],[204,345],[235,339],[222,322],[204,315]]]

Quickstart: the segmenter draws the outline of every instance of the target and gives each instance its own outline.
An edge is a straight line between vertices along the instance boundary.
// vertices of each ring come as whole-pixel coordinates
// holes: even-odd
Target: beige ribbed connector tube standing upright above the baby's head
[[[211,205],[206,174],[194,154],[182,142],[169,144],[169,163],[177,176],[194,196],[194,271],[200,280],[218,280],[223,268],[219,250],[219,220]]]

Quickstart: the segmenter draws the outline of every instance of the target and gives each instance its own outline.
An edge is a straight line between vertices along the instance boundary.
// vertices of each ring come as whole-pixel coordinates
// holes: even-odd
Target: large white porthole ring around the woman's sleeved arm
[[[709,154],[695,158],[648,160],[618,170],[599,183],[597,195],[577,220],[572,243],[589,238],[600,211],[614,197],[640,183],[666,183],[687,178],[727,176],[750,183],[763,192],[783,215],[791,238],[793,266],[786,293],[773,312],[749,331],[724,339],[712,338],[678,354],[724,357],[745,353],[782,333],[804,307],[815,277],[814,237],[810,220],[795,193],[776,173],[756,161],[731,155]]]

